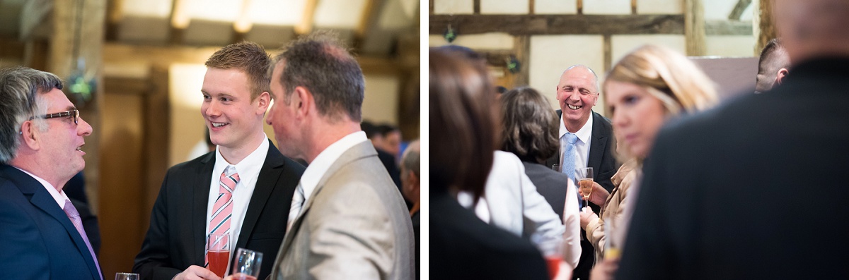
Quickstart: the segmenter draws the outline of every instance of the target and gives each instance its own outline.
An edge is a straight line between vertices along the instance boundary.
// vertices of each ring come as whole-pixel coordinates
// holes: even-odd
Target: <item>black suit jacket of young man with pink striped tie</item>
[[[206,207],[214,166],[215,151],[212,151],[168,169],[150,214],[150,228],[142,250],[132,267],[142,279],[171,279],[188,266],[204,266]],[[231,250],[256,250],[266,261],[277,257],[286,233],[292,195],[304,169],[281,155],[269,140],[239,240]],[[271,268],[270,262],[263,264],[259,279],[265,279]]]

